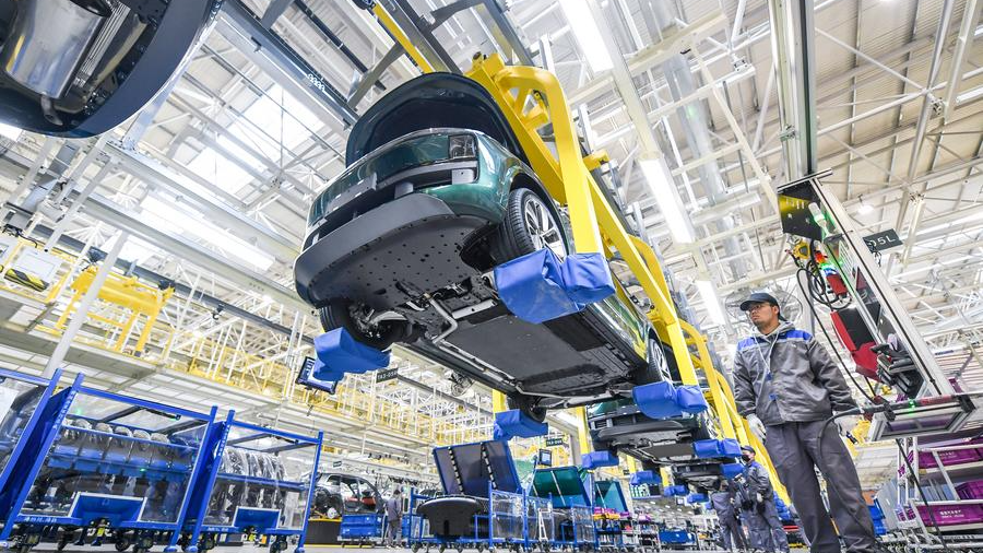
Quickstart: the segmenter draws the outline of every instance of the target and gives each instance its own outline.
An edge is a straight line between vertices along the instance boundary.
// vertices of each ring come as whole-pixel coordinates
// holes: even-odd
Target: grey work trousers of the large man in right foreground
[[[824,421],[768,426],[765,448],[792,496],[812,553],[841,551],[830,515],[837,521],[848,552],[873,553],[874,521],[861,493],[856,467],[836,424],[822,433],[822,455],[819,455],[822,427]],[[822,503],[814,467],[826,479],[831,513],[827,513]]]

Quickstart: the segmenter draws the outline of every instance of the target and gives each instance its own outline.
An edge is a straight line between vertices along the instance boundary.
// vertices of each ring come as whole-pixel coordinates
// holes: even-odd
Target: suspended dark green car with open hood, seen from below
[[[481,85],[448,73],[404,83],[354,126],[346,162],[315,200],[295,263],[325,330],[402,343],[536,417],[646,381],[658,339],[616,280],[608,298],[540,325],[499,301],[496,266],[573,245]]]

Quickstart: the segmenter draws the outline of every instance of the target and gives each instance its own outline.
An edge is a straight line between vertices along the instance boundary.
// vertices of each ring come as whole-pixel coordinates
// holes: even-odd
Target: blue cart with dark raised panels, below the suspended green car
[[[413,497],[410,546],[521,549],[526,516],[519,475],[506,442],[489,440],[434,449],[445,496]]]

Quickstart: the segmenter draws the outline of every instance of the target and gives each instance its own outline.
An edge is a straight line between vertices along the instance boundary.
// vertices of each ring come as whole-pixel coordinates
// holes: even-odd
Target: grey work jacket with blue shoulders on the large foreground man
[[[734,399],[742,416],[755,413],[766,426],[821,421],[856,407],[826,349],[791,322],[737,343]]]

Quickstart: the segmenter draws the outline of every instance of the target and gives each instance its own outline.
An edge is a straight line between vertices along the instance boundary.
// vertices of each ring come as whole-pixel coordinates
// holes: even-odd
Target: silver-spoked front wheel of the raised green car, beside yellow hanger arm
[[[559,221],[536,192],[516,188],[509,192],[509,204],[493,256],[498,263],[504,263],[543,248],[552,249],[560,259],[567,257]]]

